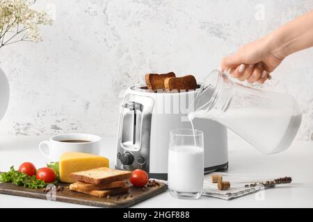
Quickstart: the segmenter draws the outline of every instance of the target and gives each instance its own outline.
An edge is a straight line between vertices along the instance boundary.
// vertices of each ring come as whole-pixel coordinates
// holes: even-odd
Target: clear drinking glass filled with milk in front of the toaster
[[[175,198],[198,199],[204,177],[204,140],[200,130],[170,132],[168,189]]]

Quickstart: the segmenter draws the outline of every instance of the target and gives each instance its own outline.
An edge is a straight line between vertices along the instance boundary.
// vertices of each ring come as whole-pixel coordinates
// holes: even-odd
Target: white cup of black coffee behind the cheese
[[[39,151],[51,162],[58,162],[63,153],[81,152],[99,155],[102,138],[84,133],[67,133],[55,135],[40,142]]]

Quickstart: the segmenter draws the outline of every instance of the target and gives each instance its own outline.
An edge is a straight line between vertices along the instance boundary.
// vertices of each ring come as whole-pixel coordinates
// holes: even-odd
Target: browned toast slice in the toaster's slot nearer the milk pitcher
[[[164,86],[168,91],[177,90],[178,92],[182,90],[188,91],[198,87],[197,80],[192,75],[166,78],[164,80]]]

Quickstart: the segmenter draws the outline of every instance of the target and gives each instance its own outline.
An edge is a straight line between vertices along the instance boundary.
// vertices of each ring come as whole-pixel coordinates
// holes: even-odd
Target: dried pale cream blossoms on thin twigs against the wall
[[[39,25],[51,25],[45,11],[33,10],[36,0],[0,0],[0,48],[20,41],[40,42]]]

